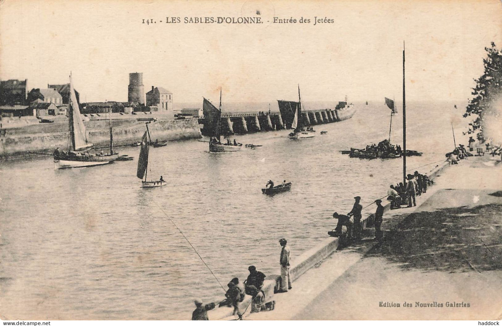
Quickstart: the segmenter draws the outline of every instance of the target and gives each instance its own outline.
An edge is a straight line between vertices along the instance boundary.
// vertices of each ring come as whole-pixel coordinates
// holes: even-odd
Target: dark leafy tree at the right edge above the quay
[[[483,59],[484,74],[474,79],[476,87],[472,90],[473,98],[466,107],[464,118],[471,114],[477,115],[476,119],[469,123],[468,133],[477,131],[477,139],[484,141],[483,119],[486,112],[491,108],[492,102],[502,96],[502,51],[491,42],[491,48],[484,48],[487,57]]]

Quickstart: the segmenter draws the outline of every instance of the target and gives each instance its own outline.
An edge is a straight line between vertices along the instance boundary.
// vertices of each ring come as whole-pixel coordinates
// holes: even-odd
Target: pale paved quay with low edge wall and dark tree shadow
[[[417,196],[416,207],[390,211],[390,202],[383,201],[382,243],[373,240],[375,206],[370,205],[362,211],[360,242],[345,246],[339,238],[326,236],[293,255],[293,288],[274,294],[279,276],[268,276],[263,289],[266,302],[276,301],[275,309],[249,313],[248,308],[243,318],[502,317],[500,159],[471,156],[454,166],[442,162],[425,175],[434,184]],[[242,310],[250,300],[246,295]],[[231,313],[229,307],[215,308],[209,319],[235,319]]]

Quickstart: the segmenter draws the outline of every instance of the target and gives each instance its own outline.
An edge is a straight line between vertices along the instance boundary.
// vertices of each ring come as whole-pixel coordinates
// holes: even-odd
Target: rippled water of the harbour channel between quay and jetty
[[[409,157],[408,167],[452,149],[454,111],[445,109],[452,106],[409,105],[407,147],[424,155]],[[140,188],[138,147],[119,148],[134,161],[95,168],[55,171],[50,156],[2,162],[2,314],[189,319],[193,298],[224,292],[170,219],[223,285],[244,278],[251,264],[278,273],[278,239],[289,240],[295,259],[326,237],[334,211],[348,212],[356,195],[369,204],[402,176],[402,159],[339,152],[388,136],[385,106],[356,108],[350,120],[316,126],[312,139],[292,141],[281,130],[235,136],[263,145],[237,153],[210,154],[196,140],[151,148],[149,175],[169,183],[158,189]],[[401,118],[394,120],[393,143],[402,140]],[[269,179],[292,182],[291,192],[264,196]]]

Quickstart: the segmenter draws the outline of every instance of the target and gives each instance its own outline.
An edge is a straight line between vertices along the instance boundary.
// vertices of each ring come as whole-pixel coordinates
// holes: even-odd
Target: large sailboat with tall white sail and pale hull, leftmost
[[[110,113],[111,119],[111,113]],[[85,125],[80,116],[77,97],[73,89],[73,82],[70,74],[70,99],[68,103],[68,129],[70,131],[70,143],[68,151],[60,152],[58,149],[54,151],[54,168],[55,169],[70,169],[84,168],[108,164],[118,158],[118,153],[113,152],[113,138],[111,133],[110,120],[110,151],[104,153],[102,150],[99,153],[90,154],[87,150],[94,145],[87,140]]]

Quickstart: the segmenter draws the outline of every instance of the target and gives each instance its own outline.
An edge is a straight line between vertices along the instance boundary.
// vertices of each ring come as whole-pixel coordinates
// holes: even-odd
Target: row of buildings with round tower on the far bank
[[[66,114],[70,99],[70,84],[48,84],[47,88],[33,88],[28,91],[28,80],[10,79],[0,81],[0,115],[43,117]],[[80,94],[75,90],[77,101]],[[128,102],[106,101],[80,103],[83,114],[133,113],[151,111],[172,114],[173,93],[163,87],[152,86],[144,92],[143,73],[129,74]]]

